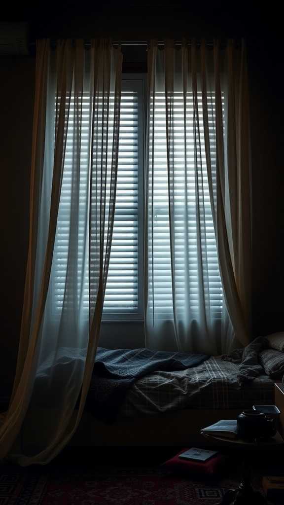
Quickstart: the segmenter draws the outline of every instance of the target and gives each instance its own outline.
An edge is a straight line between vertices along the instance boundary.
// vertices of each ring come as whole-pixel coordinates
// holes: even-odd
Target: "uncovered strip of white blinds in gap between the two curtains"
[[[104,313],[141,314],[143,86],[124,80],[114,230]]]

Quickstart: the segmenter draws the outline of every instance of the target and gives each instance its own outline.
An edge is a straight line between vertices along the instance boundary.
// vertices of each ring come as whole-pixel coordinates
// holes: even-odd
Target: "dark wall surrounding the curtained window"
[[[44,17],[36,9],[8,13],[6,20],[28,20],[30,41],[36,37],[87,37],[93,33],[113,39],[156,37],[242,37],[247,39],[252,132],[253,210],[253,331],[254,335],[283,330],[283,93],[281,43],[277,20],[267,13],[249,13],[240,5],[231,11],[221,8],[202,14],[176,3],[171,10],[147,5],[97,8],[80,16],[77,4]],[[104,4],[105,5],[105,4]],[[62,8],[63,9],[63,8]],[[150,7],[149,7],[150,9]],[[73,14],[72,14],[73,13]],[[42,19],[44,20],[42,22]],[[276,18],[275,18],[276,19]],[[31,46],[31,53],[34,52]],[[139,48],[139,63],[133,67],[131,49],[124,49],[124,69],[145,71],[146,51]],[[10,383],[14,374],[20,331],[28,244],[29,176],[34,99],[34,56],[1,58],[0,138],[2,209],[2,336],[1,376]],[[133,334],[137,334],[136,329]],[[141,332],[142,334],[142,332]]]

